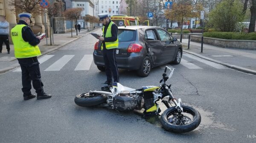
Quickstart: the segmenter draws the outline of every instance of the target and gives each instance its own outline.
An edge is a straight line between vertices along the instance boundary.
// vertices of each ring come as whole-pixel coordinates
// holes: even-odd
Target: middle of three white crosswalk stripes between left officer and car
[[[58,59],[58,61],[56,61],[55,63],[50,65],[44,71],[58,71],[58,70],[61,70],[61,68],[64,67],[64,65],[67,64],[67,62],[69,62],[70,59],[73,58],[73,56],[75,56],[75,55],[64,55],[63,57],[61,57],[61,59]]]

